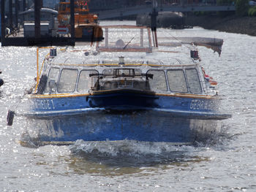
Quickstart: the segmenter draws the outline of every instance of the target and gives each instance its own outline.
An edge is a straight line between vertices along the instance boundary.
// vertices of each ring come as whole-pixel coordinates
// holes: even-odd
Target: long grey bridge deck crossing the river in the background
[[[172,5],[157,7],[158,12],[223,12],[235,11],[234,5],[217,5],[217,4],[187,4],[186,6]],[[119,9],[110,9],[107,11],[95,12],[99,15],[99,20],[120,18],[129,15],[138,15],[152,12],[152,6],[120,7]]]

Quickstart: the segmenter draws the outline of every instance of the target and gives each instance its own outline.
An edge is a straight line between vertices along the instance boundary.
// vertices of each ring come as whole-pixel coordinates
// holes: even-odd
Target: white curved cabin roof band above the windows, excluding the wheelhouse
[[[67,50],[68,51],[68,50]],[[189,53],[187,53],[189,54]],[[185,56],[179,58],[170,53],[104,53],[85,50],[71,50],[69,54],[58,53],[50,58],[50,63],[59,66],[120,66],[120,58],[124,58],[123,66],[152,66],[152,67],[185,67],[199,64]],[[159,59],[161,58],[161,59]]]

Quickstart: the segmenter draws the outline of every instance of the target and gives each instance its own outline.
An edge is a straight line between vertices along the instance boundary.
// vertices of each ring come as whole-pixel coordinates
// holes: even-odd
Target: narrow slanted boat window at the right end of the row
[[[191,93],[202,93],[200,80],[196,69],[186,69],[187,81],[189,83],[189,91]]]

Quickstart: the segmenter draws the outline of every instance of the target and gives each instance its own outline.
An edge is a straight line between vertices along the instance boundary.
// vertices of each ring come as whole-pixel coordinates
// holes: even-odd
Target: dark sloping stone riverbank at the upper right
[[[189,15],[187,17],[187,25],[200,26],[206,29],[214,29],[228,33],[256,36],[256,17],[238,18],[233,15],[221,18],[212,15]]]

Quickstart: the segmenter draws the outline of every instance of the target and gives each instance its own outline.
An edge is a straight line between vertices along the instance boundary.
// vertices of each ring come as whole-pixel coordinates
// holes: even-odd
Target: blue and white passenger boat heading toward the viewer
[[[192,145],[231,117],[219,110],[217,82],[196,49],[160,50],[157,35],[144,26],[102,28],[105,41],[87,50],[52,48],[38,67],[37,83],[26,95],[30,108],[22,114],[30,141]]]

